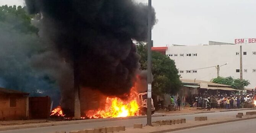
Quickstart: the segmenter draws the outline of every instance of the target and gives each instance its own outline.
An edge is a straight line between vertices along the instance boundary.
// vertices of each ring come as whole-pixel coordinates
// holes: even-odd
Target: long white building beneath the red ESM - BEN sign
[[[242,46],[242,53],[240,53],[240,46]],[[209,45],[169,46],[166,54],[175,60],[182,78],[204,81],[211,81],[212,78],[217,77],[215,67],[217,65],[221,66],[220,76],[240,78],[240,54],[242,54],[243,79],[251,83],[247,88],[255,89],[256,87],[256,44],[209,41]]]

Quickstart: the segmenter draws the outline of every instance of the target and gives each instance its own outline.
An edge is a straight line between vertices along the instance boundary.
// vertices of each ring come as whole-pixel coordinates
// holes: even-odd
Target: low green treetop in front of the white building
[[[212,79],[212,82],[218,83],[218,84],[225,84],[228,86],[231,86],[238,90],[244,90],[245,86],[250,85],[250,82],[248,80],[241,80],[241,79],[234,79],[233,77],[217,77]]]

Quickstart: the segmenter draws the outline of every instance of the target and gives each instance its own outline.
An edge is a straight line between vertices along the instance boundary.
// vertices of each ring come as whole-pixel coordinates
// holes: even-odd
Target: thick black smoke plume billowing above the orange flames
[[[139,55],[131,39],[146,40],[146,5],[133,0],[25,1],[30,13],[41,15],[39,35],[49,41],[51,51],[57,53],[46,52],[35,60],[40,64],[37,67],[43,66],[50,73],[61,75],[55,78],[62,89],[63,108],[73,106],[72,70],[81,87],[109,96],[130,92],[139,70]],[[154,25],[154,9],[152,18]],[[59,62],[45,60],[57,56],[65,60],[65,69],[58,70],[57,66],[62,65],[53,65]],[[60,74],[62,70],[68,71],[66,75]]]

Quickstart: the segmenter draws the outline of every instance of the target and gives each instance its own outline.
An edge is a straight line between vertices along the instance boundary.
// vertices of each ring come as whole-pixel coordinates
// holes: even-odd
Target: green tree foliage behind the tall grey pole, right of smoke
[[[138,54],[141,55],[141,70],[147,69],[147,47],[143,42],[137,43]],[[166,55],[159,52],[152,52],[152,82],[153,93],[161,95],[163,93],[175,94],[181,87],[181,81],[175,62]]]

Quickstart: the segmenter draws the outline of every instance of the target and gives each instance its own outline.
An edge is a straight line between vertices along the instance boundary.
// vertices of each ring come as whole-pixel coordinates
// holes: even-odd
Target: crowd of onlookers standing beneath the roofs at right
[[[256,95],[195,95],[193,107],[207,108],[253,108],[256,106]]]

